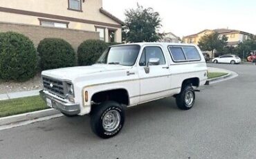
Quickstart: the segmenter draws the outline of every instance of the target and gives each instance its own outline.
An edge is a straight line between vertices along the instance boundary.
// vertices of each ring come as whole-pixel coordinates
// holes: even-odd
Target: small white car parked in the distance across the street
[[[241,59],[237,55],[222,55],[212,59],[212,62],[217,63],[227,63],[227,64],[240,64]]]

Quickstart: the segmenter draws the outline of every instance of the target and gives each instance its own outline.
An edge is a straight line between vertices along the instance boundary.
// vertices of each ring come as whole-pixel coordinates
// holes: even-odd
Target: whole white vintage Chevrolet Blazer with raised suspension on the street
[[[207,66],[192,44],[122,44],[92,66],[43,71],[42,79],[48,106],[68,117],[90,114],[93,132],[111,138],[124,126],[128,106],[173,96],[179,109],[191,109]]]

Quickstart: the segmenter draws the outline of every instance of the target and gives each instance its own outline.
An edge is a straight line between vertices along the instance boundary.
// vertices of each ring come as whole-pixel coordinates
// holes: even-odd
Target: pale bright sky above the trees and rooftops
[[[125,21],[125,10],[137,3],[159,12],[161,31],[179,37],[217,28],[256,34],[255,0],[103,0],[103,8]]]

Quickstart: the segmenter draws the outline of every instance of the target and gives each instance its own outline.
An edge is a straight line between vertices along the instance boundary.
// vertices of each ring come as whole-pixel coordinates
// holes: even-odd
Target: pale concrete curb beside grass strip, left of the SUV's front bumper
[[[55,109],[46,109],[42,111],[34,111],[30,113],[23,113],[19,115],[11,115],[0,118],[0,127],[4,125],[17,124],[18,122],[33,121],[39,118],[45,118],[52,115],[62,115],[60,111]]]

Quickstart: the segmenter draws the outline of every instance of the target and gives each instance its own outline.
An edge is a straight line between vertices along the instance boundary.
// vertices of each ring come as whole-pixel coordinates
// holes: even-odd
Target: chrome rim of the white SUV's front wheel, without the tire
[[[120,113],[116,110],[107,112],[102,120],[102,125],[105,131],[114,131],[120,124]]]

